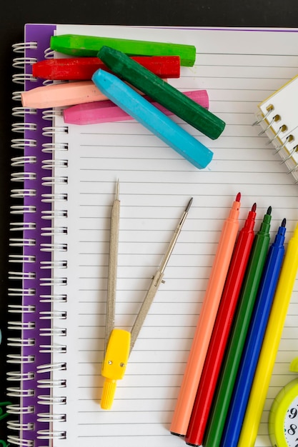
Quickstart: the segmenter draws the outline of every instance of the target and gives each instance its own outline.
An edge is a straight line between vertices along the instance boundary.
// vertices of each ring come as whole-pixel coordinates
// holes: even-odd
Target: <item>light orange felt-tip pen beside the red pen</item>
[[[224,282],[227,278],[227,271],[237,238],[240,198],[241,194],[239,193],[229,212],[229,217],[224,221],[197,329],[194,333],[192,348],[170,428],[171,433],[177,436],[186,435],[189,419],[192,415],[194,399],[196,398]]]

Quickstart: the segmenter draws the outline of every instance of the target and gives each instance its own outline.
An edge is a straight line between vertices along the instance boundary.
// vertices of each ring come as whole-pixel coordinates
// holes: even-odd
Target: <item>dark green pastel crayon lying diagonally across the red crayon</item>
[[[128,81],[136,89],[143,91],[144,94],[194,126],[202,134],[213,140],[222,134],[225,126],[222,119],[167,84],[152,71],[130,59],[126,54],[108,46],[103,46],[98,56],[119,78]]]

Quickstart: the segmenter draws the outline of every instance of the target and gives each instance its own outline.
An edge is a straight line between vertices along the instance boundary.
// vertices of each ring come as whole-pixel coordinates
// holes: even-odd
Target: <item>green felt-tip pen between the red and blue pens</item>
[[[212,403],[212,410],[204,435],[204,447],[219,447],[224,431],[224,423],[229,410],[229,403],[232,398],[234,383],[244,348],[244,343],[252,317],[254,301],[257,297],[259,282],[261,280],[264,263],[269,248],[271,206],[264,215],[259,232],[254,236],[252,253],[245,273],[242,291],[239,296],[239,305],[234,317],[234,323],[227,346],[227,353],[224,356],[222,371],[219,376],[217,391]]]

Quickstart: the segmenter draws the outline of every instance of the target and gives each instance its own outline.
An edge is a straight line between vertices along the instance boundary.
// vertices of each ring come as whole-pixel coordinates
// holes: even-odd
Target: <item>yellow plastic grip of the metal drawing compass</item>
[[[101,396],[101,408],[109,410],[114,401],[116,381],[123,378],[129,359],[131,334],[123,329],[113,329],[106,346],[101,376],[106,378]]]

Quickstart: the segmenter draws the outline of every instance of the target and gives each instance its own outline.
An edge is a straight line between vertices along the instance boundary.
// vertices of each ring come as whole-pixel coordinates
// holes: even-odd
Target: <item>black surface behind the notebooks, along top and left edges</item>
[[[9,205],[11,189],[11,45],[23,41],[24,24],[297,27],[297,0],[2,0],[0,13],[0,402],[6,401]],[[286,49],[285,49],[286,51]],[[297,49],[298,51],[298,49]],[[298,67],[297,67],[298,69]],[[297,70],[298,71],[298,70]],[[0,413],[1,415],[1,413]],[[6,440],[6,419],[0,440]]]

